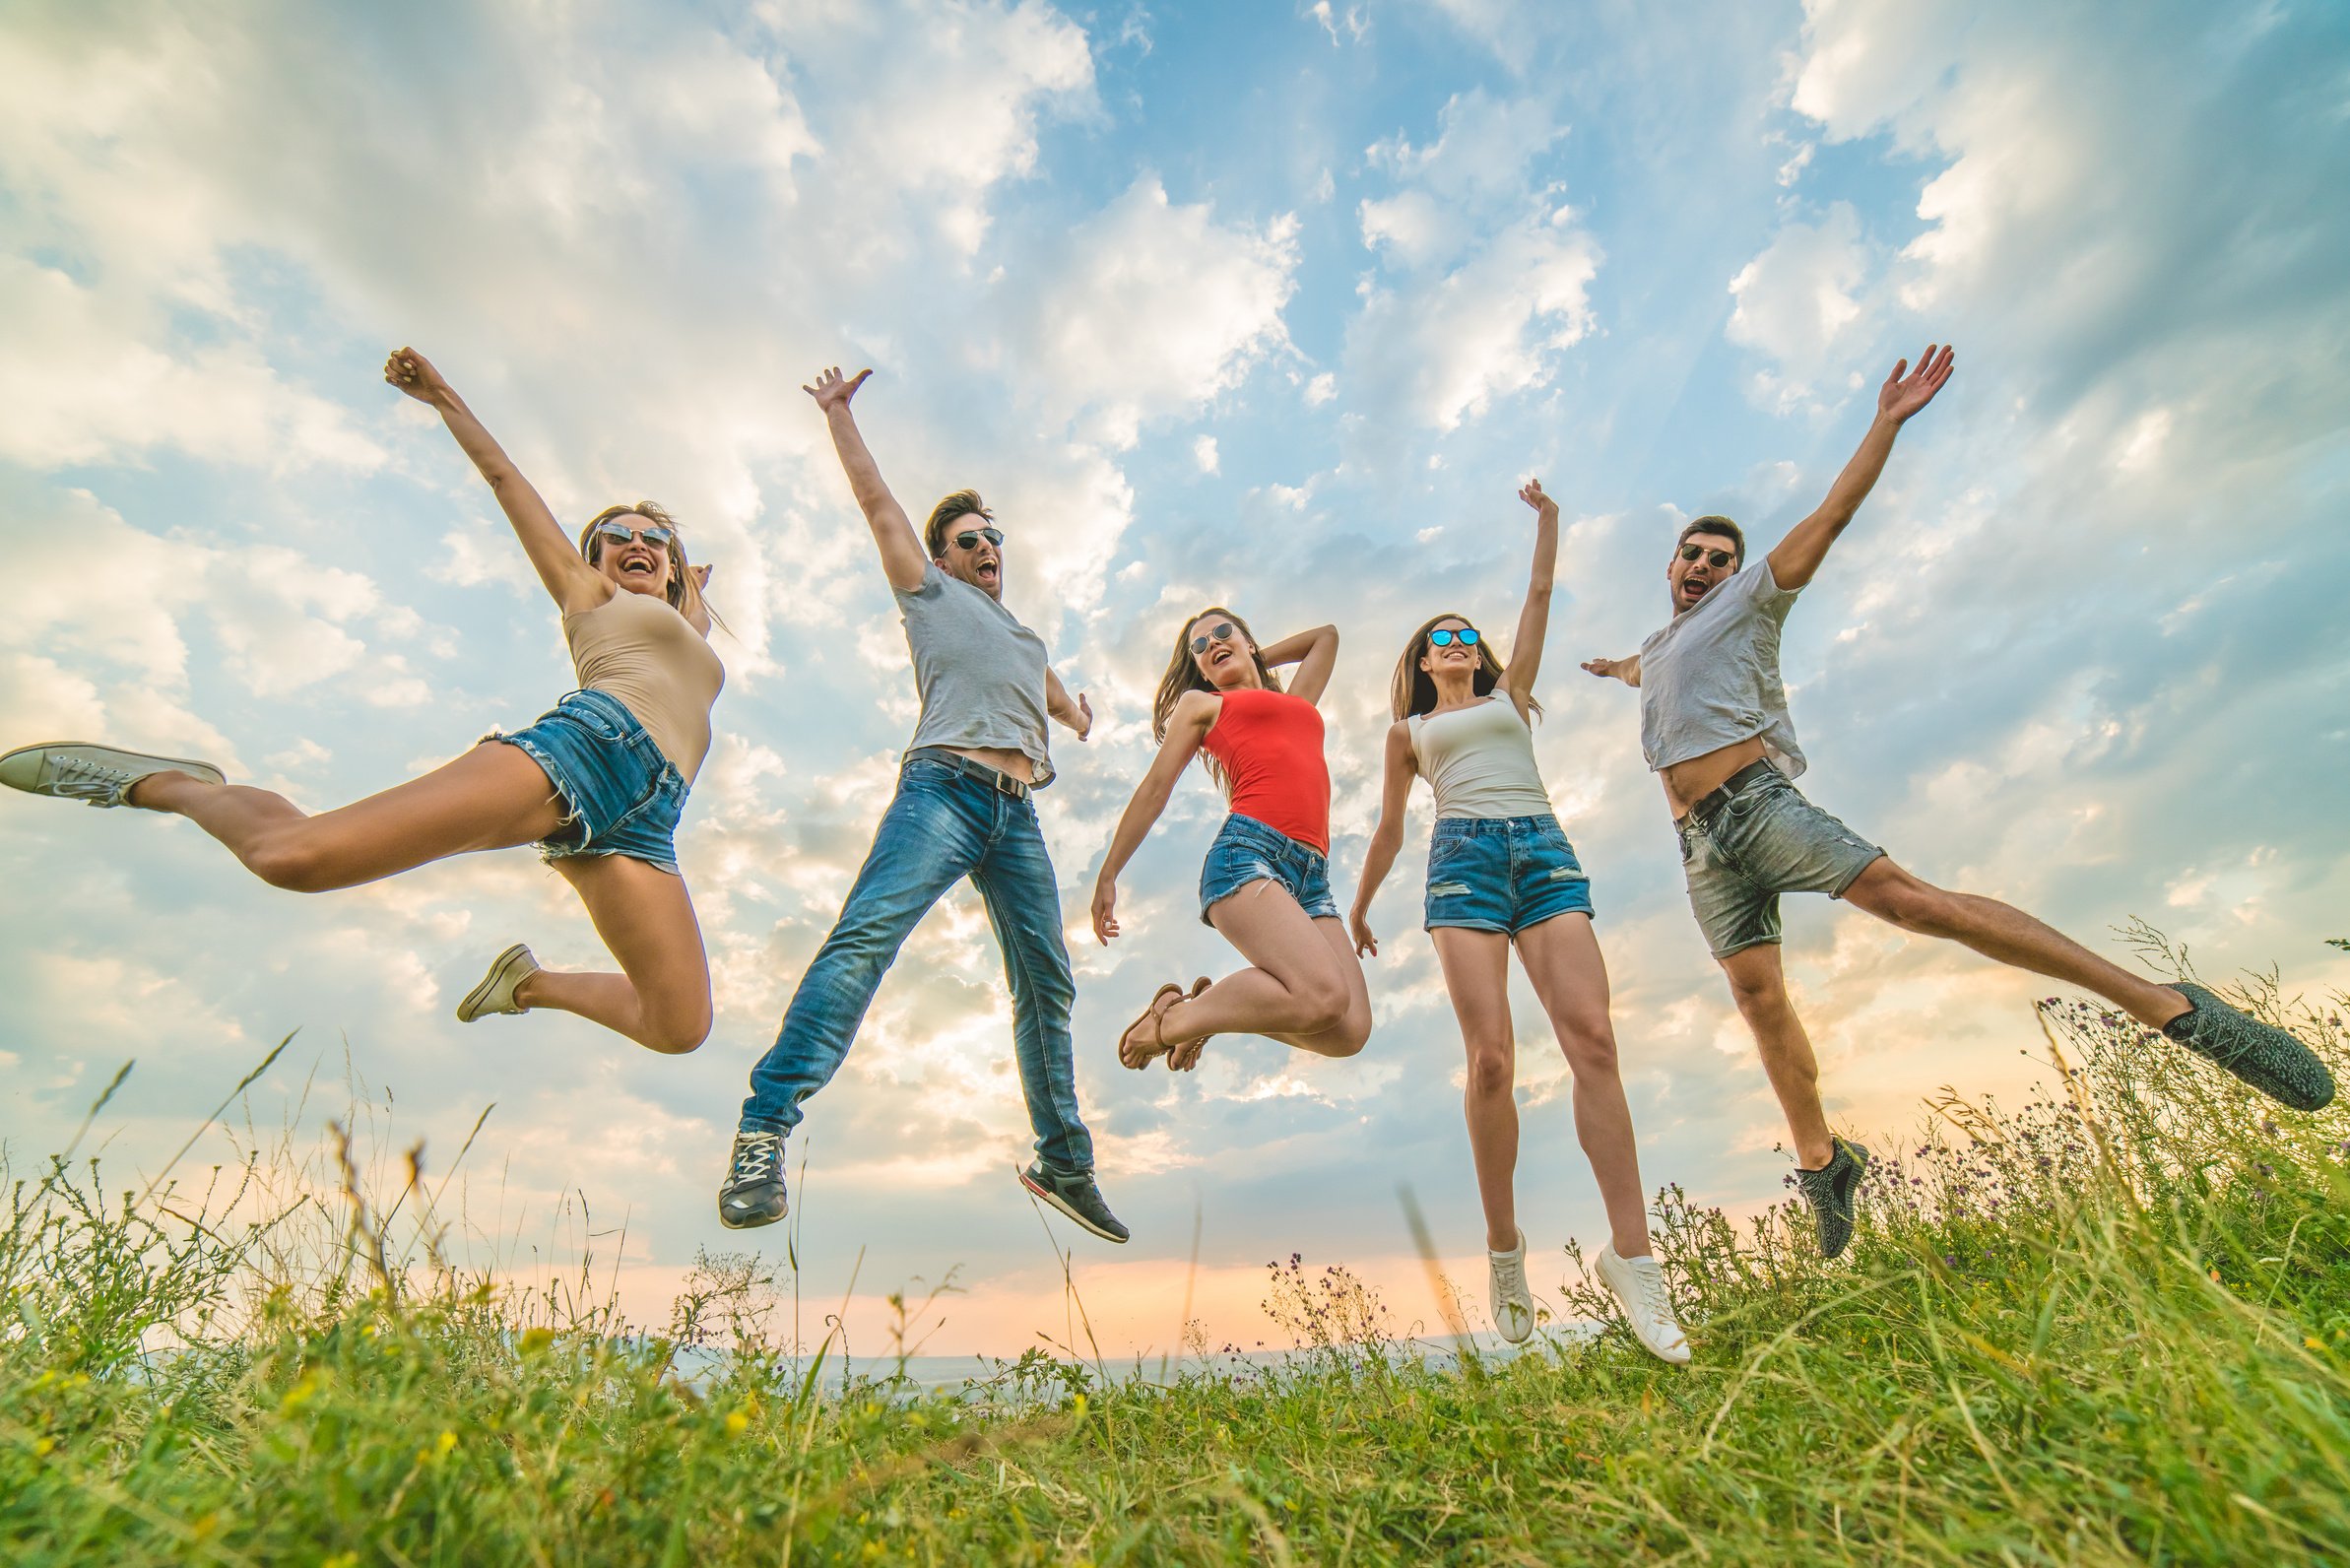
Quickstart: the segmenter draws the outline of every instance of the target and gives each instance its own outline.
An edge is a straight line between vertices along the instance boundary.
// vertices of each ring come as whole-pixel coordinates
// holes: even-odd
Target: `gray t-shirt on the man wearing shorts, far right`
[[[1781,773],[1802,773],[1779,679],[1779,625],[1793,607],[1795,590],[1779,588],[1765,557],[1640,644],[1640,750],[1652,771],[1762,736]]]

